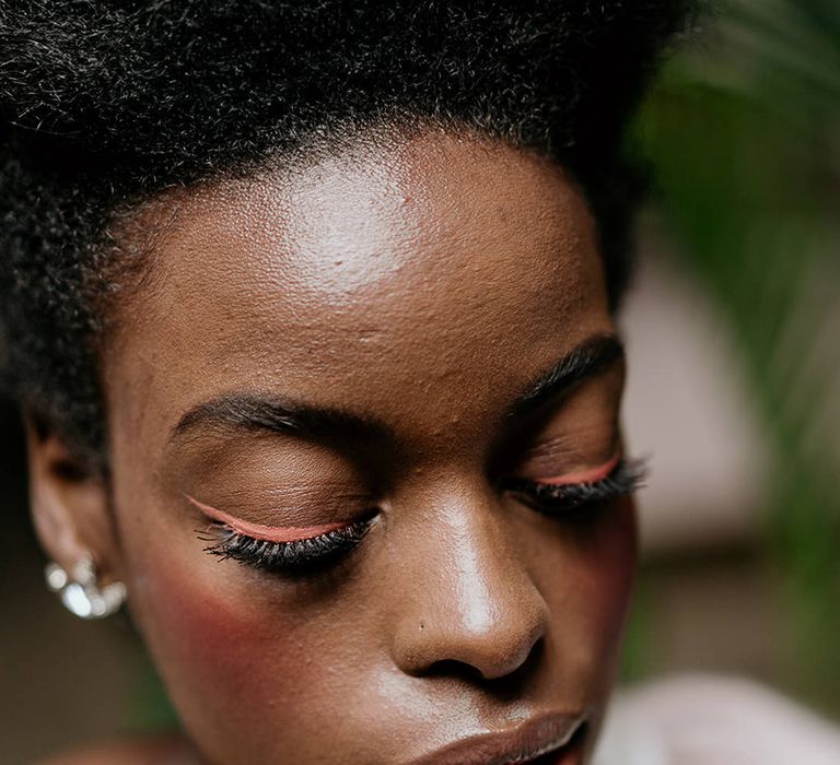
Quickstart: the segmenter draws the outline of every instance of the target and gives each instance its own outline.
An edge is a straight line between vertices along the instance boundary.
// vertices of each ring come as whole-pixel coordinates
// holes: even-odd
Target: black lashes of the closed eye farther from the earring
[[[505,480],[502,489],[538,513],[559,517],[632,494],[643,485],[645,472],[642,460],[621,460],[609,475],[599,481],[550,484],[513,478]]]

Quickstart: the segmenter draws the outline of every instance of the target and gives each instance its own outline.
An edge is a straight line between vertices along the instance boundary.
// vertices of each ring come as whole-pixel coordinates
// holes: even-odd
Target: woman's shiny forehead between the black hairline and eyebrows
[[[234,389],[469,416],[610,326],[576,188],[539,157],[453,136],[196,192],[153,270],[105,360],[109,408],[142,409],[144,427]]]

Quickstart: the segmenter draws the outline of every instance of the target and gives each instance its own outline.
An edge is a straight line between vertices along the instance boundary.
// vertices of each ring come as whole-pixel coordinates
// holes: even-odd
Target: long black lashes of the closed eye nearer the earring
[[[199,539],[213,542],[205,548],[205,552],[222,561],[233,560],[259,570],[290,576],[312,574],[337,563],[353,550],[368,532],[372,519],[373,515],[369,515],[341,529],[292,542],[254,539],[213,521]]]

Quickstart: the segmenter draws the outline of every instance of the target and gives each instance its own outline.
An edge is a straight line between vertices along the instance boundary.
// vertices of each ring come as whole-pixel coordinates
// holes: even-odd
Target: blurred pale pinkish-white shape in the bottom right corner
[[[840,727],[755,682],[686,675],[619,695],[605,750],[628,746],[633,764],[837,765]]]

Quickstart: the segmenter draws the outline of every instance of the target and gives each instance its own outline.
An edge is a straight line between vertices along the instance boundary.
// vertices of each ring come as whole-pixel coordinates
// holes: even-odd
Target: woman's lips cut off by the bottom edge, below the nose
[[[462,739],[427,754],[412,765],[514,765],[551,753],[561,754],[585,726],[583,715],[541,715],[511,731]],[[576,743],[574,750],[578,750]],[[572,750],[569,750],[569,754]],[[541,761],[540,761],[541,762]],[[564,762],[564,760],[563,760]]]

